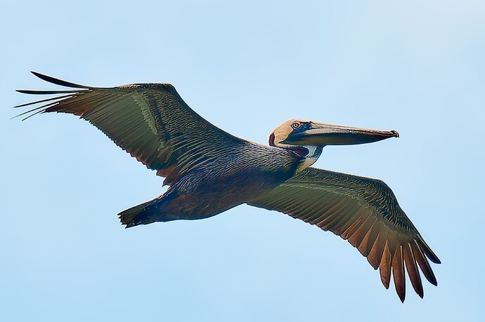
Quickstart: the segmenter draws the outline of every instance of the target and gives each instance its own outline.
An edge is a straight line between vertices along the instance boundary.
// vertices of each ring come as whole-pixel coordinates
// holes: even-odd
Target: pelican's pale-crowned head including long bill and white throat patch
[[[290,149],[313,164],[326,145],[361,145],[389,137],[399,137],[396,130],[370,130],[301,119],[291,119],[273,130],[269,145]]]

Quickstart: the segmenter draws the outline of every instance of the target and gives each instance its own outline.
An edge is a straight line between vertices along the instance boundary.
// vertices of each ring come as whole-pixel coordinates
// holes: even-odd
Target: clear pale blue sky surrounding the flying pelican
[[[483,1],[1,1],[1,321],[478,321],[484,318]],[[339,237],[238,206],[123,229],[162,178],[75,116],[11,119],[54,89],[173,83],[266,143],[304,118],[399,139],[327,147],[377,177],[443,264],[401,304]],[[481,320],[483,321],[483,320]]]

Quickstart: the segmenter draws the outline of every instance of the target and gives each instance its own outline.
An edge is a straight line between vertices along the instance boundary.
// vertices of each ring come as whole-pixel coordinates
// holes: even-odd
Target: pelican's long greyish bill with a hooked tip
[[[389,137],[399,137],[396,130],[371,130],[325,123],[310,123],[310,128],[295,130],[282,143],[288,145],[361,145]]]

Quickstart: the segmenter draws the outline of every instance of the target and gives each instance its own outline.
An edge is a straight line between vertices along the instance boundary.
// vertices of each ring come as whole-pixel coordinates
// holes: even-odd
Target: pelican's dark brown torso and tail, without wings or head
[[[231,155],[190,170],[161,196],[120,214],[127,227],[211,217],[257,199],[297,171],[303,158],[276,147],[242,142]],[[134,210],[134,211],[133,211]],[[131,215],[136,215],[131,217]]]

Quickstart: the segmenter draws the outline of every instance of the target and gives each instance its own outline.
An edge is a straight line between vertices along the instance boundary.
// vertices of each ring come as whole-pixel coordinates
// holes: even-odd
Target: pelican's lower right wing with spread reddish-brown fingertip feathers
[[[306,168],[282,185],[251,201],[251,206],[277,210],[347,239],[389,288],[391,271],[401,301],[406,295],[404,266],[414,290],[423,296],[418,266],[437,285],[429,260],[440,263],[382,181]]]

